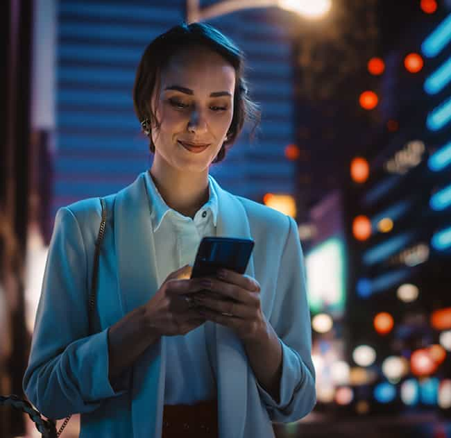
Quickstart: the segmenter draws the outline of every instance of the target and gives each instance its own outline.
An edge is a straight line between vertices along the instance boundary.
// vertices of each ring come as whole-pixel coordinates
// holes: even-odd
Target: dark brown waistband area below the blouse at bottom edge
[[[218,401],[164,405],[162,438],[217,438]]]

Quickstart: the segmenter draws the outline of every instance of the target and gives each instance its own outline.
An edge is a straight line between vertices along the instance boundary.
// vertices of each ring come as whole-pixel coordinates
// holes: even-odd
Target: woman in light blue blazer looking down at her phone
[[[106,198],[95,335],[99,199],[57,213],[24,391],[53,419],[80,412],[82,437],[273,437],[315,404],[296,222],[209,175],[255,110],[242,71],[207,24],[146,48],[133,94],[155,156]],[[245,275],[189,279],[205,235],[253,238]]]

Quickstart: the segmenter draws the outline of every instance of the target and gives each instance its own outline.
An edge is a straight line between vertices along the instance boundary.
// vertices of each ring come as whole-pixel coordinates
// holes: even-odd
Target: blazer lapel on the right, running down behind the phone
[[[246,210],[239,200],[212,183],[218,196],[216,235],[221,237],[252,238]],[[254,277],[253,255],[246,275]],[[217,391],[219,408],[219,437],[243,437],[246,421],[248,388],[248,360],[244,346],[233,330],[220,324],[206,323],[207,337],[216,329]]]

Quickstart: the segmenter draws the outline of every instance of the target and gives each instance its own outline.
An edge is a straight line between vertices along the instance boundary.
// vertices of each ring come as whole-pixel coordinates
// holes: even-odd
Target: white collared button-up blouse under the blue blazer
[[[163,283],[169,274],[185,264],[193,266],[201,239],[216,236],[218,198],[209,176],[210,197],[194,219],[169,208],[149,172],[146,189],[151,203],[151,222],[157,254],[158,278]],[[161,285],[158,285],[160,287]],[[216,397],[213,363],[214,345],[207,345],[204,324],[186,335],[167,336],[167,369],[164,403],[193,404]]]

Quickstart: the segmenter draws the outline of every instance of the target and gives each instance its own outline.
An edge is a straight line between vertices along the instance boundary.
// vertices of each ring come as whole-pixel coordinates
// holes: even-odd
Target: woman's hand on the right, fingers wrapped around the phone
[[[221,276],[223,273],[223,276]],[[195,294],[196,312],[209,321],[227,326],[243,340],[257,339],[266,332],[266,319],[260,308],[260,285],[250,276],[221,269],[218,278],[204,278],[210,292]],[[208,282],[211,284],[209,285]]]

